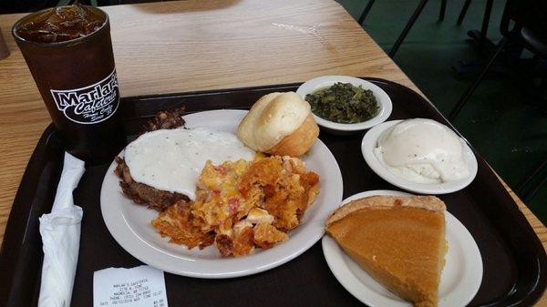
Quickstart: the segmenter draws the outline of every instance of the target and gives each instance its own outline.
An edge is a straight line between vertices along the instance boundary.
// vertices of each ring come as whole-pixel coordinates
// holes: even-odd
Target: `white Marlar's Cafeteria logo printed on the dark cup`
[[[116,70],[88,87],[50,89],[57,109],[78,124],[96,124],[110,118],[119,106]]]

